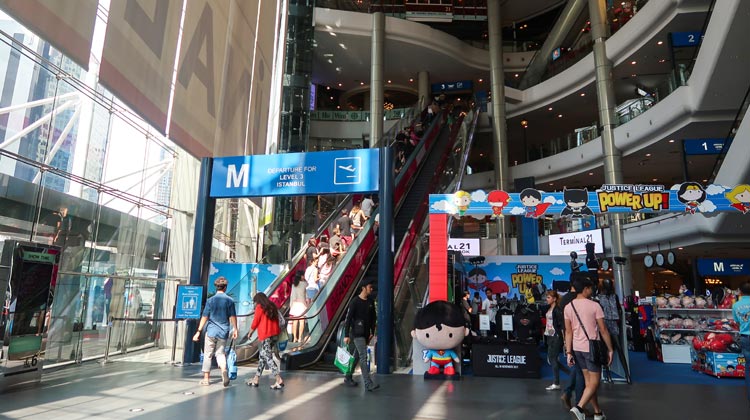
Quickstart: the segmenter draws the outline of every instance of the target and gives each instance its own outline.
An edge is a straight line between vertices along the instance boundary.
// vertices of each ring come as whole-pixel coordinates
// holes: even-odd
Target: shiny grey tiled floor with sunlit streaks
[[[458,382],[419,376],[377,377],[365,393],[340,375],[284,373],[282,391],[243,379],[223,388],[218,377],[198,385],[199,367],[117,361],[45,372],[41,385],[0,394],[0,419],[567,419],[547,380],[464,377]],[[355,377],[356,378],[356,377]],[[604,385],[601,403],[614,419],[747,419],[743,387],[635,383]],[[131,411],[134,410],[134,411]],[[723,414],[722,414],[723,413]],[[731,416],[730,416],[731,413]]]

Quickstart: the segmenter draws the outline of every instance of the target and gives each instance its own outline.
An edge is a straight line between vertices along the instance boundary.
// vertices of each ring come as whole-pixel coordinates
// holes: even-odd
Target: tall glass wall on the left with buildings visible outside
[[[47,364],[162,345],[179,150],[96,83],[96,51],[86,72],[1,12],[0,41],[0,243],[62,253]]]

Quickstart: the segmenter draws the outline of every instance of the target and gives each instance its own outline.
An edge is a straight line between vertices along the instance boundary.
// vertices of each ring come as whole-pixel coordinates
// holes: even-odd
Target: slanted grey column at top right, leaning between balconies
[[[544,41],[542,48],[537,51],[534,58],[529,63],[529,67],[526,69],[521,78],[519,84],[520,89],[526,89],[529,86],[535,85],[539,82],[544,75],[544,69],[547,68],[547,64],[552,61],[552,51],[559,47],[565,37],[570,33],[573,28],[573,24],[581,16],[583,9],[586,7],[587,0],[569,0],[563,8],[560,17],[557,18],[555,25],[552,26],[552,30],[547,35],[547,39]]]

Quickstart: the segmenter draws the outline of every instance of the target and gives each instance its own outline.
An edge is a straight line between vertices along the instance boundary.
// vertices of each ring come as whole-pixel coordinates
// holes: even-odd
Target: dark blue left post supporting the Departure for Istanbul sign
[[[211,241],[214,233],[216,216],[216,199],[210,197],[211,171],[213,159],[201,160],[200,178],[198,180],[198,206],[195,210],[195,235],[193,236],[193,255],[190,261],[190,284],[203,286],[203,302],[206,301],[208,271],[211,265]],[[182,362],[194,363],[201,354],[200,345],[193,341],[198,329],[198,321],[189,319],[185,323],[185,351]],[[205,338],[205,337],[202,337]]]

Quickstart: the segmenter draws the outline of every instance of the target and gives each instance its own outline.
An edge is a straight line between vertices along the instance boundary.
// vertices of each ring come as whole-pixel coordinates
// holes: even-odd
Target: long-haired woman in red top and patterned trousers
[[[263,292],[258,292],[253,296],[253,303],[255,303],[255,316],[250,326],[250,332],[247,335],[250,337],[253,331],[258,330],[258,340],[261,342],[260,357],[255,377],[248,379],[245,383],[257,387],[260,377],[263,375],[263,370],[268,367],[271,369],[271,374],[276,376],[276,382],[271,385],[271,389],[281,389],[284,387],[284,381],[281,380],[279,367],[276,365],[276,361],[273,360],[273,339],[281,332],[279,328],[279,310]]]

